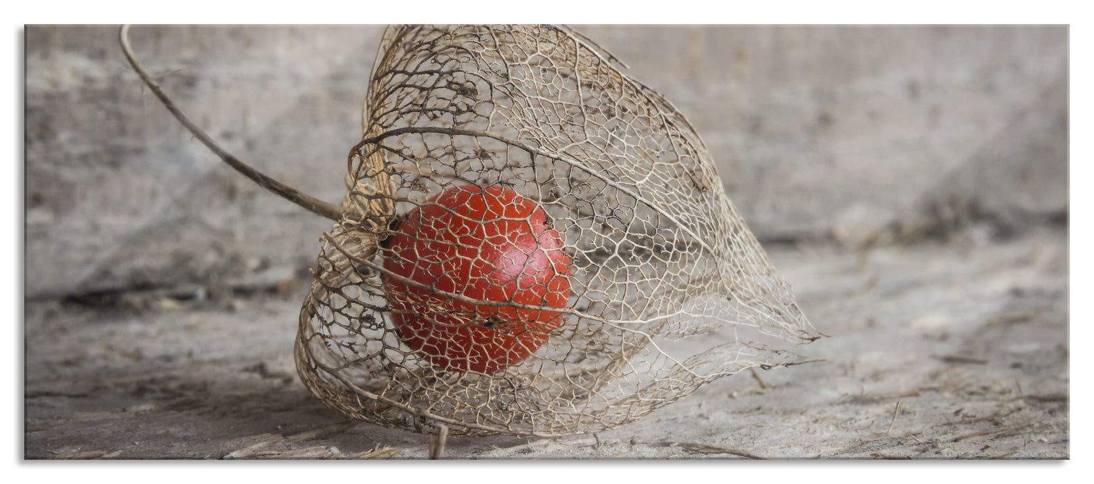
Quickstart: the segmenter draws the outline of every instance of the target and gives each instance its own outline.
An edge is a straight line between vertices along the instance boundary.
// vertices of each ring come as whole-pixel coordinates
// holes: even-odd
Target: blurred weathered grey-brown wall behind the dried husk
[[[761,241],[1067,214],[1067,27],[579,30],[689,117]],[[229,151],[337,201],[382,31],[159,26],[132,42]],[[313,265],[330,223],[193,140],[115,27],[28,26],[25,48],[27,298],[261,286]]]

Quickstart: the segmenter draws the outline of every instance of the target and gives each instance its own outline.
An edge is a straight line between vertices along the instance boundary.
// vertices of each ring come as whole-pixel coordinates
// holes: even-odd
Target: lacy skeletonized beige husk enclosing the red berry
[[[710,153],[616,64],[562,27],[387,30],[300,316],[315,395],[421,433],[563,435],[800,361],[817,333]]]

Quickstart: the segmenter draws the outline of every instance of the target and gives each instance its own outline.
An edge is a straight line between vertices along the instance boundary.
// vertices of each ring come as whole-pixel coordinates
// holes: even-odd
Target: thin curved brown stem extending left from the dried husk
[[[296,204],[314,214],[321,215],[328,219],[335,221],[341,220],[342,209],[339,206],[323,201],[311,195],[304,194],[298,191],[296,188],[293,188],[289,185],[278,182],[277,180],[267,176],[266,174],[259,172],[258,170],[251,168],[251,165],[240,161],[240,159],[235,158],[228,151],[224,151],[219,145],[217,145],[216,141],[212,140],[212,138],[209,137],[209,135],[207,135],[201,128],[195,125],[194,122],[191,122],[186,116],[186,114],[184,114],[182,110],[179,110],[178,106],[175,105],[175,103],[171,100],[171,97],[167,96],[167,94],[164,93],[162,89],[160,89],[160,85],[152,79],[152,74],[150,74],[144,69],[144,66],[142,66],[140,61],[137,60],[137,56],[133,54],[132,47],[130,47],[129,45],[129,25],[123,25],[118,30],[118,42],[121,44],[121,51],[125,54],[126,60],[129,61],[129,65],[132,66],[133,70],[137,72],[138,76],[140,76],[141,80],[144,81],[144,84],[147,84],[148,88],[152,90],[152,93],[160,99],[160,102],[163,103],[163,106],[166,107],[167,111],[170,111],[171,114],[174,115],[176,119],[178,119],[178,123],[185,126],[186,129],[194,135],[194,137],[200,140],[201,143],[206,146],[206,148],[209,148],[209,150],[212,151],[214,154],[217,154],[217,157],[220,158],[224,163],[228,163],[230,166],[235,169],[235,171],[243,173],[244,176],[251,178],[263,188],[266,188],[281,196],[282,198],[292,201],[293,204]]]

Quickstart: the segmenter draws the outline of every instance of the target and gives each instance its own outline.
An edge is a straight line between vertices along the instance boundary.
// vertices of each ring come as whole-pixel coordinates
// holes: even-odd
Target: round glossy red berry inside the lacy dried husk
[[[497,185],[455,186],[429,201],[385,241],[384,268],[479,301],[567,306],[570,257],[534,201]],[[556,311],[469,303],[393,277],[384,289],[401,339],[449,370],[516,365],[562,324]]]

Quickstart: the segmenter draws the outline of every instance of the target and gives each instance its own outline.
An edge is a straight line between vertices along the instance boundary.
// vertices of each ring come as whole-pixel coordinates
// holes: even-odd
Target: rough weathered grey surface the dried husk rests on
[[[1064,227],[768,251],[831,336],[801,348],[824,361],[744,371],[597,435],[451,438],[445,457],[1069,458]],[[25,458],[424,459],[426,436],[347,422],[304,390],[305,280],[26,301]]]

